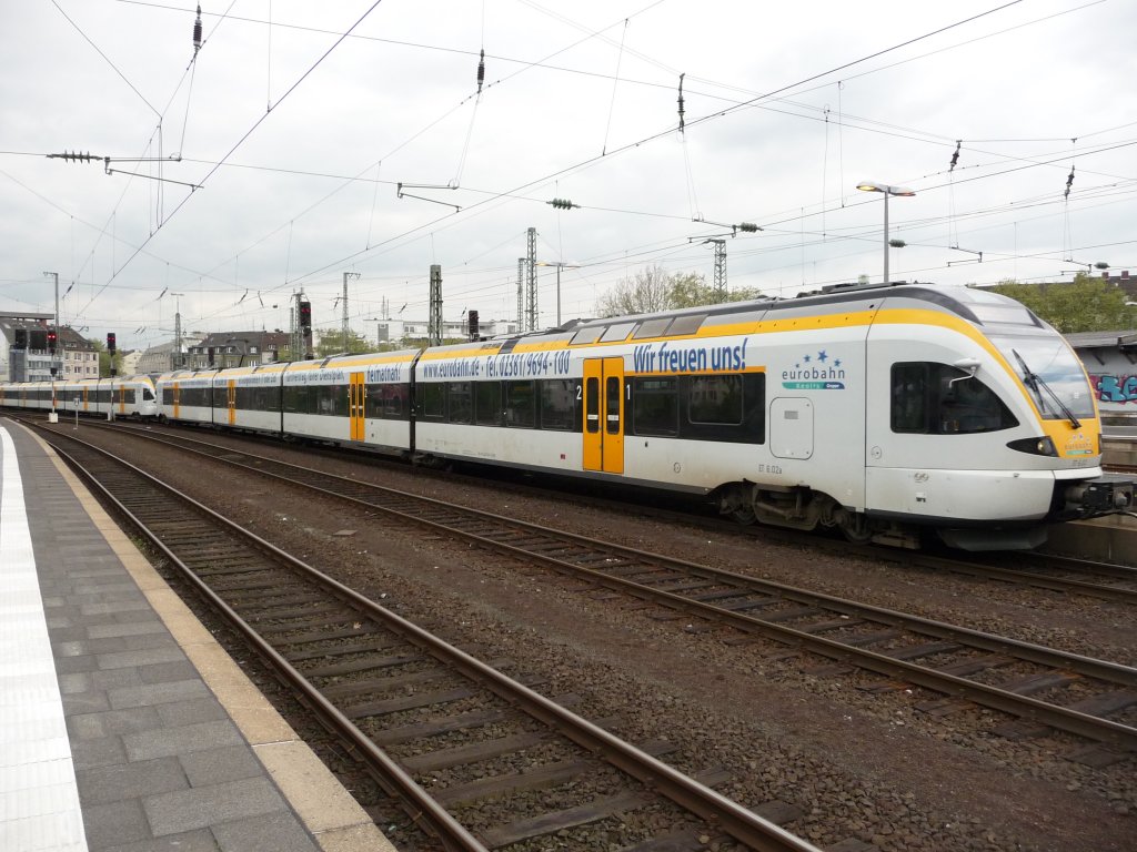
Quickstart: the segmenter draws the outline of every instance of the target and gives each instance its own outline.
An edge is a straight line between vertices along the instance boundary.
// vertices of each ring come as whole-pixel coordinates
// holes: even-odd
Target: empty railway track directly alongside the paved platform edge
[[[600,827],[644,852],[818,852],[761,816],[783,803],[725,799],[723,774],[683,775],[659,760],[665,744],[613,736],[139,468],[42,432],[445,849],[538,849]]]

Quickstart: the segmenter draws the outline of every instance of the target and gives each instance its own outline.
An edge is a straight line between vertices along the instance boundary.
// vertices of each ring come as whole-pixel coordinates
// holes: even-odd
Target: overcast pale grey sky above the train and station
[[[529,227],[563,319],[648,266],[709,282],[707,237],[731,289],[879,282],[862,181],[916,193],[893,281],[1137,275],[1132,0],[223,0],[196,59],[176,0],[0,2],[0,310],[52,311],[55,272],[121,348],[179,308],[287,329],[300,290],[339,327],[345,273],[373,337],[432,264],[447,319],[512,319]]]

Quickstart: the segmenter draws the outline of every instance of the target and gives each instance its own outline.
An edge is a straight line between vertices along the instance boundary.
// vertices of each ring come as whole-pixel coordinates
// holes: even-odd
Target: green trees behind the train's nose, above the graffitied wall
[[[1131,328],[1137,312],[1120,287],[1086,273],[1070,284],[1020,284],[1002,281],[990,290],[1030,308],[1062,334]]]

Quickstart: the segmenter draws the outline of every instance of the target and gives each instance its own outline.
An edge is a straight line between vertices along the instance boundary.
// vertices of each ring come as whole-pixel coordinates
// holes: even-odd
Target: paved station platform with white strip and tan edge
[[[50,448],[5,418],[0,850],[395,850]]]

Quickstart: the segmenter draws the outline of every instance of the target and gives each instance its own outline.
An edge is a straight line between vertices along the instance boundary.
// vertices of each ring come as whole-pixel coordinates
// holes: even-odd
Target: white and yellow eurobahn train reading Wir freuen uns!
[[[1084,367],[1019,302],[844,286],[500,339],[179,371],[158,416],[706,495],[853,541],[1026,549],[1127,511]],[[16,399],[10,390],[6,399]]]

